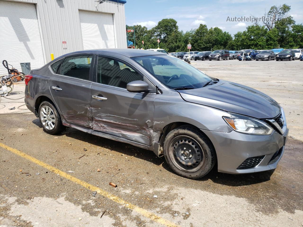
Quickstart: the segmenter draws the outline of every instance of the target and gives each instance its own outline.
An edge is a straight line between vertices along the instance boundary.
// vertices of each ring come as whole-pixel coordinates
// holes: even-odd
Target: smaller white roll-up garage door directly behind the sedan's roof
[[[83,49],[115,48],[113,15],[80,11]]]

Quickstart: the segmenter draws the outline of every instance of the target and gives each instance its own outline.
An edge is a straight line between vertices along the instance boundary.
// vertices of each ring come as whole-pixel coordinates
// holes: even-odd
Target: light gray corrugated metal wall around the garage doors
[[[45,63],[73,51],[83,50],[79,10],[113,14],[117,48],[127,48],[125,31],[125,8],[123,3],[95,0],[10,0],[12,2],[36,3],[40,23]],[[26,14],[26,12],[24,12]],[[62,41],[67,42],[64,49]]]

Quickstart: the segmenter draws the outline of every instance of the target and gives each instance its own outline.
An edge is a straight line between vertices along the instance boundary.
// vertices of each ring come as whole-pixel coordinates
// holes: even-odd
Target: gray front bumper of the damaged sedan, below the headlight
[[[255,173],[277,168],[288,136],[288,129],[283,135],[275,130],[271,135],[202,131],[215,147],[218,172],[231,174]],[[244,161],[253,157],[261,157],[261,162],[252,168],[237,169]]]

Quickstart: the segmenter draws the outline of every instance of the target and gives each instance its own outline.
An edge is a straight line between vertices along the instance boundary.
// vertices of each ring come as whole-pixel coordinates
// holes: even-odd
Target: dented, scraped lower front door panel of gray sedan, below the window
[[[92,96],[104,97],[98,100]],[[92,83],[93,130],[151,145],[155,94]]]

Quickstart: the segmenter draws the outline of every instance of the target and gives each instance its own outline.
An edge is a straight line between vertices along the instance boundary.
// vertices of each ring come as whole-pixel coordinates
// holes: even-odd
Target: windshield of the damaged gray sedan
[[[195,89],[212,81],[210,77],[190,64],[170,55],[134,57],[155,78],[166,87]]]

